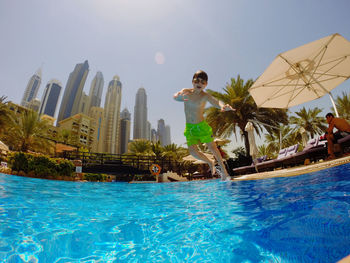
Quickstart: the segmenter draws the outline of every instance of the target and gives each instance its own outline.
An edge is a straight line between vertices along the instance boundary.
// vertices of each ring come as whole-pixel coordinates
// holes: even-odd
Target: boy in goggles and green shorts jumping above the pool
[[[235,111],[230,105],[224,104],[204,91],[208,84],[208,75],[202,70],[198,70],[193,78],[191,89],[182,89],[174,94],[176,101],[184,102],[186,129],[184,135],[187,140],[188,150],[195,158],[206,162],[212,174],[215,174],[215,164],[198,150],[197,144],[205,143],[213,153],[221,168],[221,180],[230,180],[221,154],[213,139],[212,128],[204,120],[204,108],[207,101],[221,111]]]

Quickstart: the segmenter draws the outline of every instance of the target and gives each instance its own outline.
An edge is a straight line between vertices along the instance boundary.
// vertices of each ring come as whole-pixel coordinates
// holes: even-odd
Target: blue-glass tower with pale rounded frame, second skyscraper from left
[[[55,117],[57,103],[60,98],[62,84],[56,79],[50,80],[44,90],[39,109],[40,115]]]

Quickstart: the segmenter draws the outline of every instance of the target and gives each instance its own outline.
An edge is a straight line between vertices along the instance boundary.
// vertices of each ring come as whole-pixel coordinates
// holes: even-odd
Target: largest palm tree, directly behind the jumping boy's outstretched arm
[[[269,133],[280,123],[287,124],[287,111],[283,109],[258,108],[248,89],[253,80],[244,82],[240,76],[232,78],[231,83],[224,88],[224,93],[208,90],[215,98],[231,105],[236,111],[221,112],[210,107],[206,109],[206,120],[213,128],[215,136],[227,138],[232,134],[237,137],[237,128],[243,135],[247,155],[249,154],[248,133],[244,130],[248,121],[253,123],[256,133],[260,136],[265,128]]]

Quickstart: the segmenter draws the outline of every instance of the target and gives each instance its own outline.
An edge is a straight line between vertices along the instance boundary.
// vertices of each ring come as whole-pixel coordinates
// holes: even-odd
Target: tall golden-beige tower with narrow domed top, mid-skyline
[[[114,76],[108,84],[105,100],[105,152],[120,153],[120,104],[122,83]]]

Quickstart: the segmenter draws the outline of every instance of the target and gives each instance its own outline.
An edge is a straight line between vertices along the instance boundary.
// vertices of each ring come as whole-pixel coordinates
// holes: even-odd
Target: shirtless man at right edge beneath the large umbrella
[[[328,160],[335,159],[334,155],[334,143],[337,140],[344,138],[350,134],[350,124],[341,118],[335,118],[332,113],[327,113],[326,115],[327,123],[329,124],[327,129],[327,143],[328,143]],[[337,128],[338,131],[333,133],[333,129]]]

